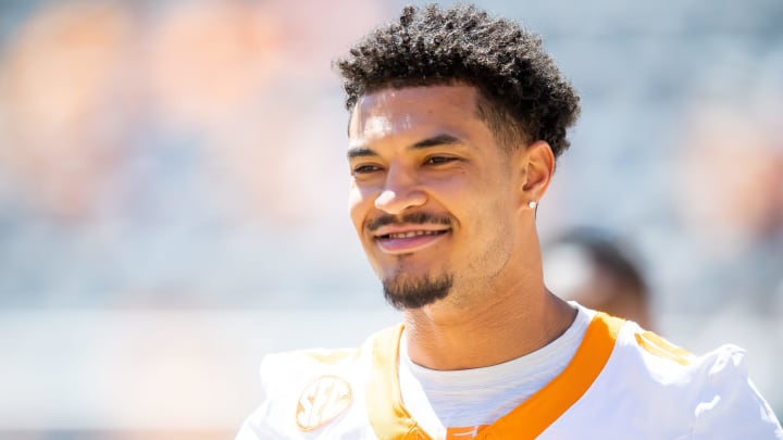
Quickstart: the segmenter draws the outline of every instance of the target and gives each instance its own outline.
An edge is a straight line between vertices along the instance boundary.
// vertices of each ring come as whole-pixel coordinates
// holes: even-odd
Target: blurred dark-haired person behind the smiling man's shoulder
[[[547,287],[560,298],[655,330],[642,265],[609,231],[574,228],[548,241],[544,274]]]

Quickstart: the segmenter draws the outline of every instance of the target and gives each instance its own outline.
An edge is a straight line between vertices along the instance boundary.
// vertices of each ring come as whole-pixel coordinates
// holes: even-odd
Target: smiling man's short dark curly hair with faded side
[[[501,144],[543,139],[559,156],[580,113],[579,96],[538,35],[473,5],[406,7],[399,23],[368,34],[335,62],[346,108],[383,88],[467,84]]]

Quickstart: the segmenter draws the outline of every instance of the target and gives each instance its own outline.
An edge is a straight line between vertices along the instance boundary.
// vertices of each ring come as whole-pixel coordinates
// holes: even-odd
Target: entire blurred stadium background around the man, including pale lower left
[[[0,438],[231,438],[264,353],[398,318],[330,62],[402,4],[0,1]],[[783,414],[783,2],[477,4],[583,97],[543,238],[622,237],[659,332]]]

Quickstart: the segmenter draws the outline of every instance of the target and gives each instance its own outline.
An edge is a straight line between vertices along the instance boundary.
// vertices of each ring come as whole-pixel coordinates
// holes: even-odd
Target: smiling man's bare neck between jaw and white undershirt
[[[500,364],[540,349],[566,332],[576,311],[539,289],[510,289],[473,304],[440,301],[406,311],[411,361],[452,370]]]

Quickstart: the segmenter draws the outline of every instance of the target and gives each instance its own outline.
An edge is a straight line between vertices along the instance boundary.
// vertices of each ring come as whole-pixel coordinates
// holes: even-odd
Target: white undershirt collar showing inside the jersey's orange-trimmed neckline
[[[594,312],[575,302],[576,318],[551,343],[512,361],[483,368],[435,370],[414,364],[400,340],[399,379],[402,402],[411,416],[435,438],[446,427],[489,425],[559,375],[582,342]]]

